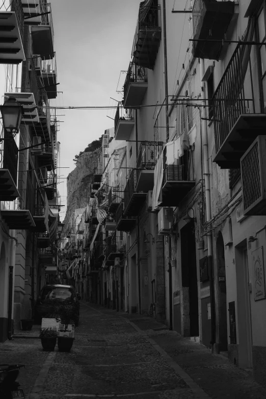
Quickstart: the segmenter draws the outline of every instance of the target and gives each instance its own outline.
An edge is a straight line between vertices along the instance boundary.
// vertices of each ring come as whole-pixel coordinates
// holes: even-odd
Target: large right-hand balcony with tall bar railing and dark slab
[[[222,169],[240,168],[241,157],[265,131],[266,114],[260,105],[255,64],[256,46],[238,44],[212,99],[216,145],[213,161]]]

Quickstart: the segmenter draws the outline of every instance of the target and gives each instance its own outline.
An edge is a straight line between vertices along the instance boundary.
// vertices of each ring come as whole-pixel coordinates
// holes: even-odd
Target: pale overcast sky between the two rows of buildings
[[[104,106],[116,93],[121,70],[129,65],[140,0],[50,0],[55,30],[58,91],[52,105]],[[123,77],[123,80],[125,76]],[[122,82],[123,83],[123,82]],[[114,102],[113,102],[114,103]],[[114,126],[107,111],[57,111],[61,142],[60,174],[74,169],[72,159],[105,129]],[[110,113],[109,113],[110,115]],[[66,179],[64,179],[66,182]],[[66,184],[59,191],[66,205]],[[65,206],[66,209],[66,206]],[[63,211],[63,208],[61,208]],[[61,215],[61,220],[64,214]]]

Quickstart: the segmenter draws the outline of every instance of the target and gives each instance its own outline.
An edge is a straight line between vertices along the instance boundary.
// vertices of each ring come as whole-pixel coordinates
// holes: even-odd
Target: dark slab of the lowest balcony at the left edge
[[[35,227],[29,210],[1,210],[1,216],[10,230],[28,230]]]

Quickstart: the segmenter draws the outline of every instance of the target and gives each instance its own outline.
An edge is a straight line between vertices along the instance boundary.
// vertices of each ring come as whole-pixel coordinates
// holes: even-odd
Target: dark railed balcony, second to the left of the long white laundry
[[[140,208],[146,201],[147,191],[137,191],[138,170],[133,169],[127,180],[124,190],[124,214],[126,216],[138,216]]]

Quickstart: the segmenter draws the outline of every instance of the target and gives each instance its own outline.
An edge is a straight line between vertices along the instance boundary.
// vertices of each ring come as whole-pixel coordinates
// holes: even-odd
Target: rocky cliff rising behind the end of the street
[[[76,167],[67,177],[67,211],[64,223],[75,209],[86,207],[90,197],[93,178],[93,164],[97,162],[101,148],[83,153],[77,160]]]

